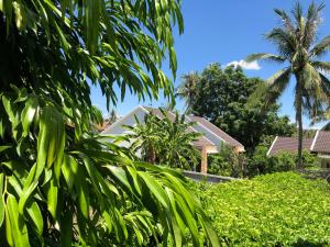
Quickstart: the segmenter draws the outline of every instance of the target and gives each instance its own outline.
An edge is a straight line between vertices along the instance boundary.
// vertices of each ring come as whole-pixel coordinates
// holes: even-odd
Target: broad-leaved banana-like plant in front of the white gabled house
[[[194,146],[200,133],[191,128],[194,122],[186,122],[185,115],[160,109],[162,119],[146,114],[143,122],[135,117],[135,126],[125,126],[133,139],[131,149],[140,153],[143,160],[173,168],[196,169],[200,153]]]

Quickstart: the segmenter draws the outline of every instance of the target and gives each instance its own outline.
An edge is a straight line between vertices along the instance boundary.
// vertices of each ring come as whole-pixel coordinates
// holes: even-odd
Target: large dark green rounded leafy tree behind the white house
[[[241,68],[219,64],[208,66],[199,76],[191,112],[204,116],[240,141],[253,151],[264,135],[290,135],[294,126],[288,117],[277,115],[278,105],[263,111],[262,102],[249,108],[246,102],[263,83],[258,78],[248,78]]]

